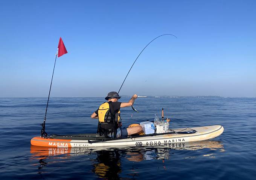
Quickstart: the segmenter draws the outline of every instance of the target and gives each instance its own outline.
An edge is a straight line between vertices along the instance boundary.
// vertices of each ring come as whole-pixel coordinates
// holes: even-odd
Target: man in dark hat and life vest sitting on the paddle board
[[[107,102],[101,104],[91,115],[91,118],[99,118],[97,133],[100,136],[105,135],[106,138],[124,138],[141,132],[141,126],[121,128],[120,122],[120,108],[132,106],[137,97],[137,94],[134,94],[128,103],[121,103],[118,102],[121,97],[117,92],[109,92],[105,97]]]

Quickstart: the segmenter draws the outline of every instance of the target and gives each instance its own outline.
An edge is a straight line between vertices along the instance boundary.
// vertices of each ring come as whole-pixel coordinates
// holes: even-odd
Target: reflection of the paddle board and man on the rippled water
[[[56,147],[30,147],[30,153],[32,159],[38,159],[38,173],[41,174],[41,169],[47,166],[49,159],[54,159],[50,163],[63,162],[69,160],[73,156],[82,155],[96,155],[95,160],[91,160],[91,171],[98,175],[99,178],[112,178],[119,179],[119,173],[122,171],[121,162],[126,159],[130,162],[142,162],[152,159],[160,159],[165,162],[167,159],[171,159],[171,153],[174,150],[184,151],[197,151],[204,148],[210,150],[216,150],[223,152],[224,147],[220,141],[197,141],[197,142],[183,142],[183,143],[169,143],[166,146],[157,147],[140,147],[140,148],[127,148],[118,147],[105,149],[99,148],[85,148],[85,147],[73,147],[73,148],[56,148]],[[172,153],[172,156],[175,154]],[[204,154],[202,156],[214,157],[214,154]],[[184,157],[191,158],[191,157]],[[195,157],[193,157],[195,158]],[[165,165],[163,165],[165,169]]]

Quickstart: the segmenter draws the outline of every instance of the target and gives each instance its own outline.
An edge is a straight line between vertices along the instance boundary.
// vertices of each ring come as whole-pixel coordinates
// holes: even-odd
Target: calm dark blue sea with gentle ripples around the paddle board
[[[128,101],[129,98],[121,98]],[[35,148],[46,98],[0,98],[0,177],[8,179],[255,179],[256,98],[138,98],[121,109],[123,125],[171,118],[171,127],[220,124],[221,136],[209,141],[161,148],[83,150]],[[91,113],[104,98],[50,98],[48,134],[95,133]]]

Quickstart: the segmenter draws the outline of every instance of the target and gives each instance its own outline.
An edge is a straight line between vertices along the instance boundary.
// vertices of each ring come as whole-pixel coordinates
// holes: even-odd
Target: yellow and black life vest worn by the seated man
[[[99,135],[105,135],[108,138],[109,133],[114,134],[114,138],[116,138],[116,132],[118,128],[118,123],[120,120],[120,110],[114,114],[113,106],[111,101],[105,102],[99,106],[98,116],[98,130],[97,133]]]

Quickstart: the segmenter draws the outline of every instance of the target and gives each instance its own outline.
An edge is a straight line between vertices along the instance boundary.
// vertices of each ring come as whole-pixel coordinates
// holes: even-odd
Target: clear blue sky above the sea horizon
[[[0,97],[256,97],[256,2],[1,1]]]

